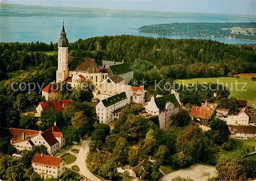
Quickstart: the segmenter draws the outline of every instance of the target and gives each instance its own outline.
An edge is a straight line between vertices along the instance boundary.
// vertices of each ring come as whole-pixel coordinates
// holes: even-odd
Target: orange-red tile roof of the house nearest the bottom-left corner
[[[48,155],[35,154],[32,163],[58,167],[62,159],[59,157],[53,157]]]

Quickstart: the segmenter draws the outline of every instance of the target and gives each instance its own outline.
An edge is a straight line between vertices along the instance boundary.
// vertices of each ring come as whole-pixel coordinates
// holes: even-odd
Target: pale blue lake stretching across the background
[[[94,8],[39,7],[1,4],[0,42],[56,42],[62,29],[62,19],[68,39],[76,41],[94,36],[130,34],[136,36],[159,35],[139,33],[144,25],[172,22],[255,22],[255,16],[171,13],[148,11],[121,11]],[[132,29],[131,29],[132,28]],[[167,38],[195,38],[164,36]],[[224,43],[255,43],[240,39],[205,38]]]

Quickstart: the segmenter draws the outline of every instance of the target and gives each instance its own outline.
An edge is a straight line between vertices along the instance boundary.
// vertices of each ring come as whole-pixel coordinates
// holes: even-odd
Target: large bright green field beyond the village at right
[[[237,81],[237,89],[236,89],[236,81]],[[235,97],[237,99],[243,99],[248,101],[248,105],[255,106],[256,105],[256,81],[252,81],[244,78],[231,78],[231,77],[219,77],[219,78],[196,78],[196,79],[184,79],[177,80],[179,83],[183,83],[184,85],[188,83],[224,83],[230,89],[230,96]],[[244,83],[246,83],[245,87]],[[242,89],[243,88],[243,89]]]

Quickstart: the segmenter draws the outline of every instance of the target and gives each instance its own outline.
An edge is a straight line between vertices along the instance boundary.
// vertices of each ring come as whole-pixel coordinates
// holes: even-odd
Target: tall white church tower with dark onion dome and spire
[[[62,32],[60,33],[60,38],[58,40],[58,70],[56,74],[56,82],[62,82],[69,77],[68,48],[69,40],[67,38],[67,33],[65,32],[63,21]]]

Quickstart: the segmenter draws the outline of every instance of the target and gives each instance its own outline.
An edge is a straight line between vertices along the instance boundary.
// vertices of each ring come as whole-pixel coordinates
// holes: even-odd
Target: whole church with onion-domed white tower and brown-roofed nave
[[[95,59],[70,57],[68,53],[69,40],[65,32],[64,22],[60,38],[58,40],[58,70],[56,82],[69,82],[76,86],[85,80],[90,80],[98,89],[102,82],[108,79],[122,80],[123,84],[129,84],[133,79],[133,71],[130,64],[115,61],[102,61],[98,66]]]

